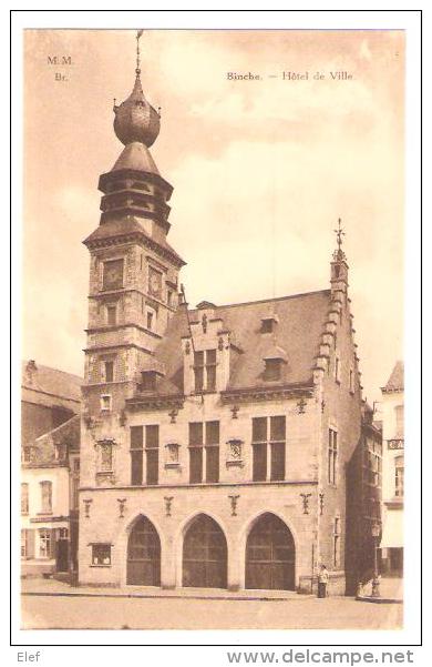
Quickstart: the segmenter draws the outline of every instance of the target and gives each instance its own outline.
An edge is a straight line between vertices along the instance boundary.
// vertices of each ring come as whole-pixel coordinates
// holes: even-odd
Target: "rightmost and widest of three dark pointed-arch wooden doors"
[[[296,548],[288,526],[267,512],[254,523],[246,542],[245,588],[295,590]]]

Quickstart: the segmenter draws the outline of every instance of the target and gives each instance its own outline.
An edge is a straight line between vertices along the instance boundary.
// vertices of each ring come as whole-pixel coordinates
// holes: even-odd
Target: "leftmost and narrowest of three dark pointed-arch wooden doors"
[[[126,583],[161,586],[161,539],[152,522],[141,515],[127,540]]]

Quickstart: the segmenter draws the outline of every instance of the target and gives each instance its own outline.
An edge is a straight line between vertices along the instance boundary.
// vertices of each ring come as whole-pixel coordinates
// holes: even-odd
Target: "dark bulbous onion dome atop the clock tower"
[[[150,148],[156,141],[161,117],[145,99],[138,73],[132,93],[120,107],[114,104],[114,132],[124,145],[138,141]]]

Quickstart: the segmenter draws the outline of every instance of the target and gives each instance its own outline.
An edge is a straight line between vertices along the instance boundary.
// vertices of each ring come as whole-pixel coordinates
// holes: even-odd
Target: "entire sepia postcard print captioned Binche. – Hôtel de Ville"
[[[141,26],[23,30],[21,640],[395,636],[405,30]]]

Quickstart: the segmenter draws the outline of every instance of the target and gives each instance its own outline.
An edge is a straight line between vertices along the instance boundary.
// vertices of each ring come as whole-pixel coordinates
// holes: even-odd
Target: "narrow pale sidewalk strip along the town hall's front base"
[[[65,597],[137,597],[137,598],[189,598],[189,599],[232,599],[232,600],[286,600],[307,599],[315,595],[299,595],[295,590],[225,590],[223,588],[175,588],[166,590],[158,587],[92,587],[70,586],[56,579],[22,579],[21,595],[65,596]]]

